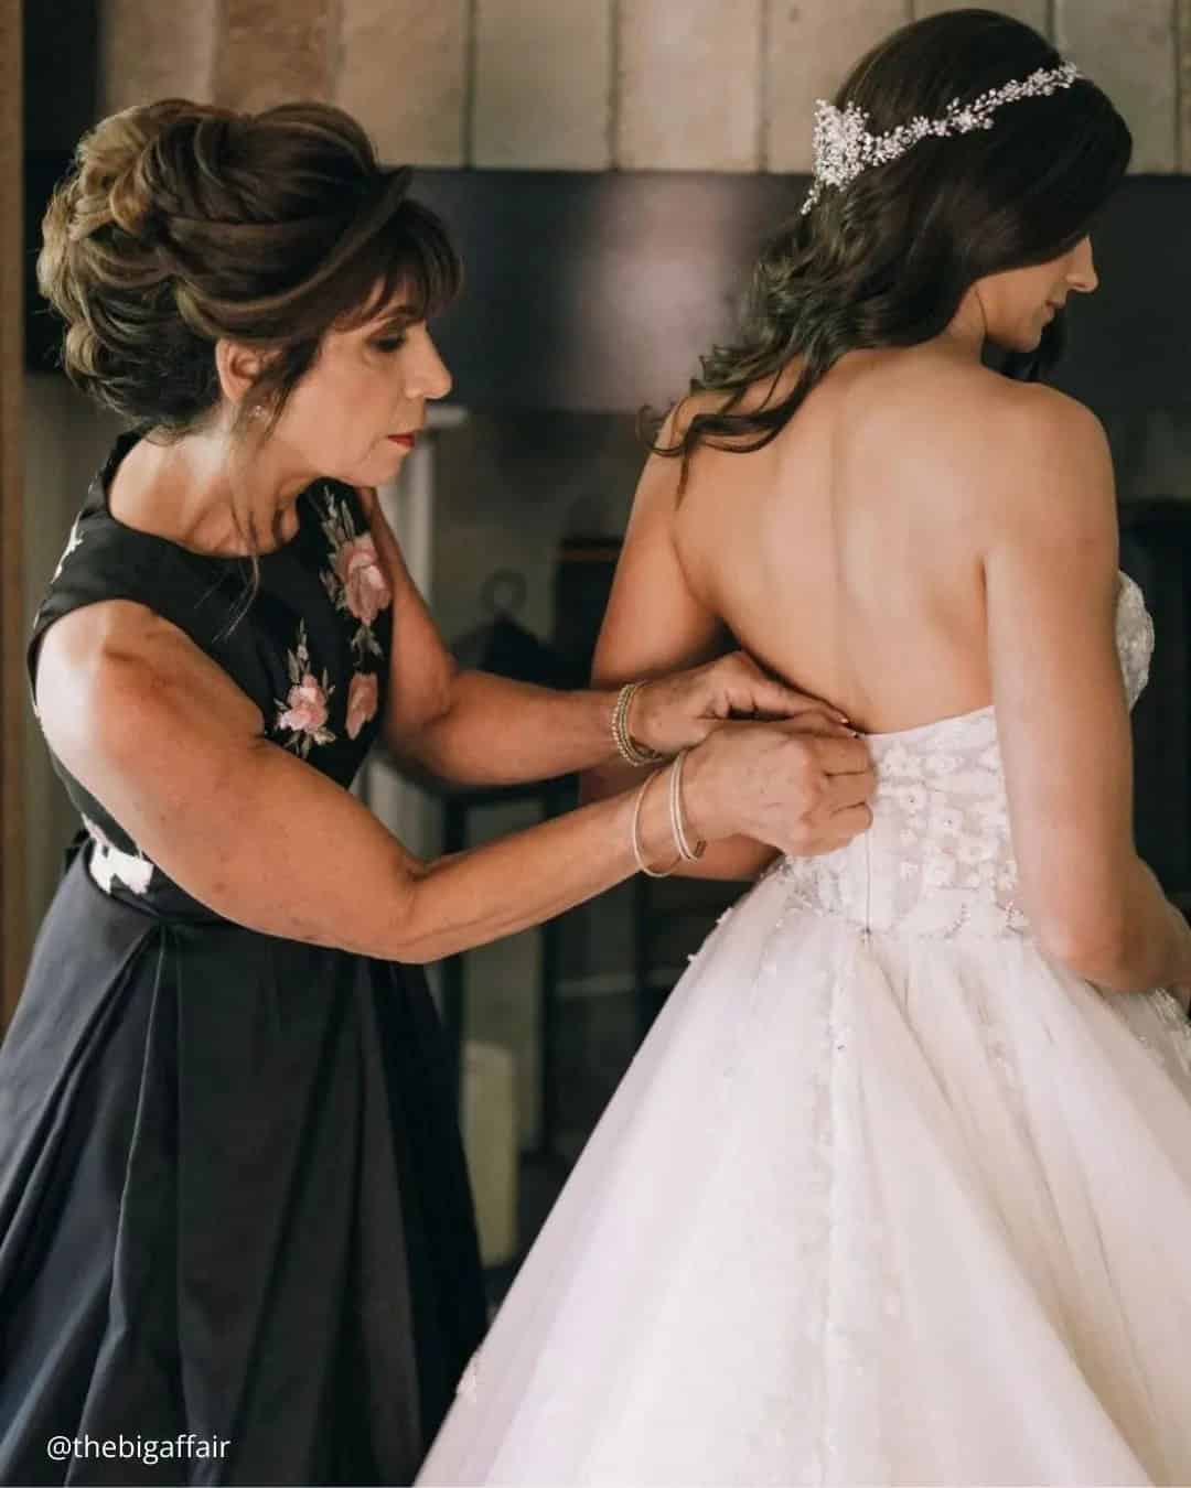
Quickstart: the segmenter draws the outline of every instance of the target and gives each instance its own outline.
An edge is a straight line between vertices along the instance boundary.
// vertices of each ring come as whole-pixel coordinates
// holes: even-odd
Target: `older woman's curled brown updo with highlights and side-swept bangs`
[[[134,429],[182,434],[217,406],[214,342],[229,339],[271,353],[240,415],[272,423],[329,329],[397,290],[418,318],[459,292],[459,257],[409,176],[328,104],[241,115],[171,98],[104,119],[51,201],[37,260],[67,373]]]

